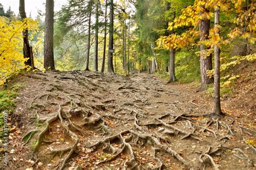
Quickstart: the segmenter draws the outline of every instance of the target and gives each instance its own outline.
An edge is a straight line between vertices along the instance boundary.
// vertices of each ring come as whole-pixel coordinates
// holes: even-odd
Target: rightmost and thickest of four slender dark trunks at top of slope
[[[110,73],[114,73],[113,68],[113,44],[114,44],[114,4],[113,0],[110,0],[110,26],[109,26],[109,60],[107,63],[107,71]]]

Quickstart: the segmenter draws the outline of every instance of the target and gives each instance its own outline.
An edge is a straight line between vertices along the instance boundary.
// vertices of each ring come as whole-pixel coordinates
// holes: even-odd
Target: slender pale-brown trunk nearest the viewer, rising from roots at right
[[[214,9],[214,34],[219,34],[219,7]],[[220,48],[214,45],[214,109],[213,114],[220,116]]]

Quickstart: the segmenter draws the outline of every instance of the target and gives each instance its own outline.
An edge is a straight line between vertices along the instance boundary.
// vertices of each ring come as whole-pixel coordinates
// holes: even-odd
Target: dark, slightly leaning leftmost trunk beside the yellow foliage
[[[19,15],[21,15],[22,21],[23,21],[23,19],[26,18],[24,0],[19,0]],[[26,24],[26,23],[24,23],[24,24]],[[23,34],[23,56],[24,56],[24,58],[28,58],[28,60],[25,61],[25,65],[32,66],[30,47],[29,47],[29,38],[28,38],[28,28],[24,29],[22,31],[22,34]]]

